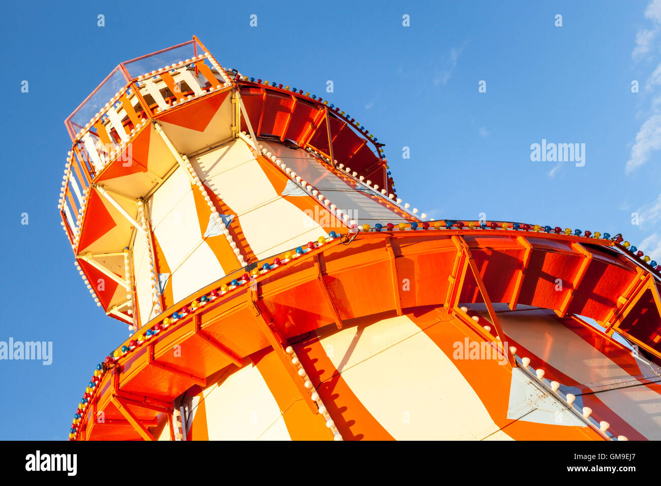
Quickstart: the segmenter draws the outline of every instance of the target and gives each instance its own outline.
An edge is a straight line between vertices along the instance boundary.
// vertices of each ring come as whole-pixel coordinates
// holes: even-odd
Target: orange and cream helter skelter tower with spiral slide
[[[197,38],[66,126],[62,225],[132,330],[71,440],[661,438],[661,267],[621,235],[425,221],[353,118]]]

